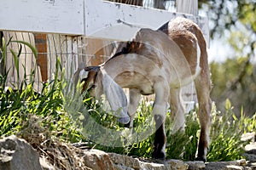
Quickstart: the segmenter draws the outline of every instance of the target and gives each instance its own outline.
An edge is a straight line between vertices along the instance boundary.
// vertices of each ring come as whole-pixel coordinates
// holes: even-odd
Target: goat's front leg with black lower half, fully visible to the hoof
[[[154,136],[154,152],[153,157],[156,159],[164,159],[166,157],[166,111],[169,98],[169,86],[163,81],[154,84],[154,121],[155,121],[155,136]]]

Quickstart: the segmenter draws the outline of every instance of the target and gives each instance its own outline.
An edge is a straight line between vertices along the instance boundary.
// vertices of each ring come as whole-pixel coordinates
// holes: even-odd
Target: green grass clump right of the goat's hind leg
[[[241,141],[246,125],[243,119],[237,119],[232,112],[230,100],[226,100],[224,114],[213,109],[211,144],[207,155],[208,161],[232,161],[242,158],[243,148],[247,142]]]

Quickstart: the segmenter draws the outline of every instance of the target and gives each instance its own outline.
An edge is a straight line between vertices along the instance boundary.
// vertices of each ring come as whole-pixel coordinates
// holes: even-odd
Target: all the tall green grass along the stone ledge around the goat
[[[3,43],[1,53],[6,56],[8,43]],[[37,51],[26,42],[19,42]],[[20,46],[21,47],[21,46]],[[13,52],[15,68],[19,71],[19,55]],[[3,59],[4,61],[4,59]],[[5,62],[5,61],[4,61]],[[33,72],[33,71],[32,71]],[[150,157],[154,143],[154,119],[152,106],[145,101],[139,105],[134,128],[125,128],[116,117],[102,107],[102,101],[91,98],[88,94],[79,94],[74,85],[68,82],[56,64],[55,78],[45,82],[40,92],[33,89],[34,75],[26,77],[30,82],[19,82],[15,89],[6,92],[9,71],[0,75],[0,135],[16,134],[33,142],[32,138],[49,140],[59,139],[67,143],[88,142],[90,147],[129,156]],[[71,79],[71,78],[68,78]],[[208,161],[230,161],[241,158],[243,146],[241,134],[255,132],[256,116],[242,115],[237,118],[227,100],[226,111],[221,113],[212,107],[211,144]],[[167,158],[193,161],[199,138],[200,124],[196,116],[197,109],[186,115],[185,132],[172,132],[170,114],[166,118],[166,156]]]

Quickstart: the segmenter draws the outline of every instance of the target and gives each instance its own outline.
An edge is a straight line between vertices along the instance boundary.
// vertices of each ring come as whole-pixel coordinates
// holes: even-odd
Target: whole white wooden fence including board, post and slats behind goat
[[[99,59],[95,60],[95,57],[100,57],[100,62],[108,59],[115,48],[115,41],[130,40],[142,27],[157,29],[178,15],[194,20],[209,42],[208,21],[197,15],[197,0],[177,0],[177,12],[101,0],[0,0],[0,4],[0,31],[7,41],[13,37],[36,46],[40,39],[35,38],[35,34],[46,35],[46,49],[38,51],[47,56],[46,78],[42,74],[44,68],[38,65],[28,48],[22,48],[20,56],[20,80],[24,73],[22,65],[26,65],[26,74],[37,68],[38,87],[35,89],[38,90],[40,82],[51,79],[55,73],[56,56],[61,57],[67,77],[72,77],[79,66],[98,64]],[[105,46],[108,48],[99,53]],[[11,48],[18,51],[15,44]],[[9,82],[16,82],[17,73],[11,54],[7,59]],[[188,98],[185,100],[195,101],[193,85],[184,89],[183,96]]]

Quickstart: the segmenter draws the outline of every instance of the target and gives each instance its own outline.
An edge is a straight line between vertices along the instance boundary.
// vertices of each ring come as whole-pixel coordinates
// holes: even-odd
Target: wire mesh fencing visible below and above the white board
[[[143,8],[162,8],[171,12],[176,10],[175,0],[109,1],[143,6]],[[2,33],[6,42],[9,42],[10,39],[12,41],[29,42],[38,50],[38,59],[36,59],[32,50],[24,44],[9,43],[6,65],[0,65],[1,71],[8,71],[9,74],[6,86],[14,88],[24,79],[29,82],[29,75],[34,74],[33,88],[37,92],[40,92],[43,88],[43,82],[51,81],[54,78],[57,59],[60,60],[61,70],[65,68],[63,70],[65,77],[70,79],[73,73],[81,67],[102,64],[111,57],[118,47],[117,42],[106,39],[15,31],[2,31]],[[15,67],[15,59],[12,56],[11,49],[16,54],[20,51],[18,68]],[[195,90],[191,90],[193,88],[194,84],[183,88],[183,99],[189,101],[189,105],[194,105],[196,102]]]

